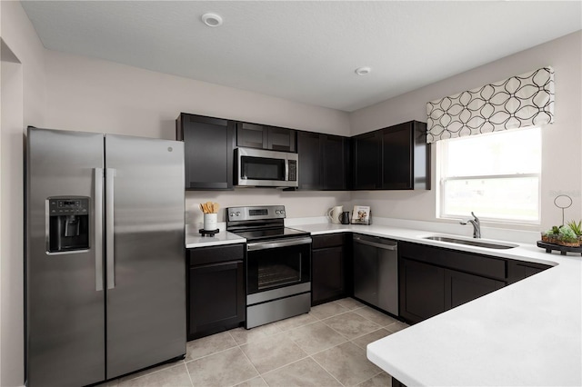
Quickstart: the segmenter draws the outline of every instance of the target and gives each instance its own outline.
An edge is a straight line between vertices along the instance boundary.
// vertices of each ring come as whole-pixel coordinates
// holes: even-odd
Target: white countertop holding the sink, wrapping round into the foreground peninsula
[[[314,235],[366,233],[554,267],[367,346],[407,386],[582,385],[582,257],[531,243],[491,250],[383,225],[294,224]]]

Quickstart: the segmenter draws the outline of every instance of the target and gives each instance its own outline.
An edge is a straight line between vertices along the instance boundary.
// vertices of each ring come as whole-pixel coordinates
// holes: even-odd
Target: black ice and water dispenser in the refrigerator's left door
[[[48,252],[62,253],[89,248],[89,198],[49,197]]]

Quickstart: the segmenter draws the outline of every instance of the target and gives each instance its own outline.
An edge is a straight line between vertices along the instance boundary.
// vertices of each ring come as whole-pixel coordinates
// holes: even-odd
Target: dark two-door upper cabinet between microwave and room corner
[[[332,134],[298,132],[297,154],[299,154],[300,190],[348,189],[348,138]]]

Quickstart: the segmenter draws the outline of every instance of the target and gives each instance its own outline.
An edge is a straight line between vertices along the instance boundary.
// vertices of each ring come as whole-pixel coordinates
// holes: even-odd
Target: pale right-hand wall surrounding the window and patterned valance
[[[582,219],[582,32],[563,36],[544,45],[510,55],[496,62],[457,74],[436,84],[403,94],[350,114],[352,134],[409,120],[426,122],[426,102],[526,73],[545,65],[556,72],[556,122],[542,128],[541,229],[560,224],[561,210],[554,206],[557,194],[572,196],[566,221]],[[433,190],[428,192],[356,192],[353,203],[371,205],[376,216],[421,221],[436,218],[436,146],[432,147]],[[470,214],[467,214],[467,217]],[[452,222],[452,221],[449,221]],[[539,227],[514,227],[535,229]]]

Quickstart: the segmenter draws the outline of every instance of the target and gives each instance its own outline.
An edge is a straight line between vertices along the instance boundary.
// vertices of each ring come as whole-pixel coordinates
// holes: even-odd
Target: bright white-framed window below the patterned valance
[[[442,218],[539,223],[541,131],[537,127],[437,143]]]

